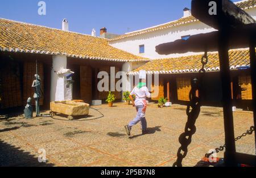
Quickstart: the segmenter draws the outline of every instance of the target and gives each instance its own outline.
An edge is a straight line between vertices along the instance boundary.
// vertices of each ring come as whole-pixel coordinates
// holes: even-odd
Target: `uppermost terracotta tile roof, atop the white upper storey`
[[[253,9],[254,7],[256,7],[256,0],[247,0],[247,1],[241,1],[235,4],[240,7],[243,10],[246,9]],[[109,41],[115,41],[115,40],[119,40],[119,39],[124,39],[126,37],[130,37],[130,36],[137,36],[137,35],[141,35],[143,33],[148,33],[148,32],[154,32],[154,31],[159,31],[162,29],[166,29],[166,28],[170,28],[170,27],[175,27],[175,26],[181,26],[183,24],[187,24],[187,23],[192,23],[192,22],[198,22],[199,20],[196,19],[193,16],[188,16],[185,18],[180,18],[178,20],[166,23],[166,24],[162,24],[160,26],[155,26],[155,27],[151,27],[151,28],[147,28],[147,29],[142,29],[141,31],[135,31],[135,32],[131,32],[131,33],[126,33],[125,35],[121,35],[118,37],[115,37],[114,39],[110,39]]]

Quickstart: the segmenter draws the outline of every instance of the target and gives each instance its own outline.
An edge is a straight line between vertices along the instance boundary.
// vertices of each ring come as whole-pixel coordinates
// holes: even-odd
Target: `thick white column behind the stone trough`
[[[60,69],[67,69],[67,56],[52,56],[51,101],[65,99],[64,75],[57,74]]]

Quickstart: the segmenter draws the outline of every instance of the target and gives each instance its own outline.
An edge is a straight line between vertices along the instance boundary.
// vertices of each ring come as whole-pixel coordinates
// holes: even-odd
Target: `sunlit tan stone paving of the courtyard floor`
[[[0,166],[172,166],[187,116],[185,106],[147,109],[148,134],[134,126],[131,137],[123,126],[136,114],[123,103],[93,107],[77,121],[65,117],[0,120]],[[101,117],[95,119],[97,117]],[[234,112],[235,135],[253,125],[253,113]],[[183,166],[195,166],[204,154],[224,144],[222,108],[202,107],[197,132],[188,147]],[[255,155],[254,134],[236,143],[237,151]],[[38,150],[46,150],[47,163],[38,162]],[[223,152],[218,154],[223,157]]]

